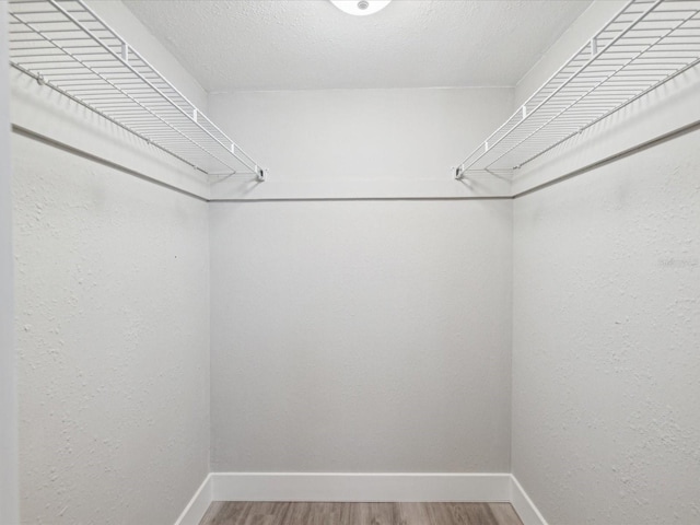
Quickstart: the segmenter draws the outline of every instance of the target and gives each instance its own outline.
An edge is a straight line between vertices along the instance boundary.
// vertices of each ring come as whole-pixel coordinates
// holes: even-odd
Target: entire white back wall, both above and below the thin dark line
[[[210,206],[212,470],[509,470],[512,205],[430,198],[508,194],[450,162],[511,98],[210,96],[270,170],[213,198],[290,200]]]

